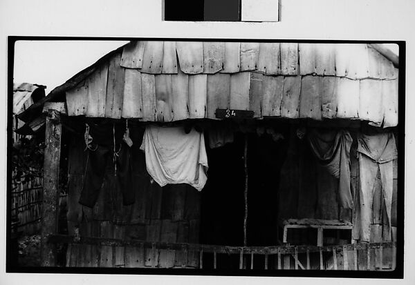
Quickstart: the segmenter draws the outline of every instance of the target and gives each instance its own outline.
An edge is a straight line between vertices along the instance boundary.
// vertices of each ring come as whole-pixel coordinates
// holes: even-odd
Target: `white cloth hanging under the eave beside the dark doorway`
[[[208,155],[203,132],[183,127],[147,126],[141,150],[147,171],[160,186],[190,184],[202,190],[208,179]]]

